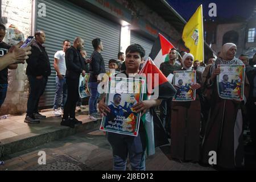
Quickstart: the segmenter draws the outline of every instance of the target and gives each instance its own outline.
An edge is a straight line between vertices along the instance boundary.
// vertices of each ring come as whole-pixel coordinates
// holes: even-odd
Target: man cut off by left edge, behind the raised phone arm
[[[3,38],[6,35],[6,28],[3,24],[0,24],[0,56],[6,55],[11,46],[3,42]],[[6,98],[7,87],[8,87],[8,69],[16,69],[18,65],[11,64],[2,71],[0,71],[0,107]]]

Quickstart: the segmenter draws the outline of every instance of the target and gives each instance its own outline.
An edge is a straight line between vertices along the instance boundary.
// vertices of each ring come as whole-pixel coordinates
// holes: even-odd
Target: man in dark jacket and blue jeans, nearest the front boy
[[[104,59],[101,55],[103,51],[103,45],[101,39],[94,39],[92,41],[94,51],[91,56],[92,62],[90,63],[90,78],[89,78],[89,89],[90,89],[90,99],[89,99],[89,119],[97,121],[100,114],[97,113],[97,101],[100,97],[98,93],[98,75],[101,73],[106,73]]]

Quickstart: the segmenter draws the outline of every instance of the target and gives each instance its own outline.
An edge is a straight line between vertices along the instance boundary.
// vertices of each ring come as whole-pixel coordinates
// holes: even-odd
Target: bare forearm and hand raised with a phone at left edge
[[[14,64],[16,61],[24,63],[24,61],[28,59],[28,55],[31,54],[31,47],[19,48],[22,44],[23,42],[19,42],[16,46],[11,47],[6,55],[0,57],[0,71],[10,64]]]

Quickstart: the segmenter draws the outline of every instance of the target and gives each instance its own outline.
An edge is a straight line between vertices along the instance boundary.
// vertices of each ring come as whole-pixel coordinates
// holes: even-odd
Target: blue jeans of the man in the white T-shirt
[[[64,105],[67,101],[67,84],[65,76],[63,75],[64,79],[60,79],[56,76],[56,92],[55,98],[53,103],[53,109],[58,109],[59,106],[61,109],[64,109]],[[60,104],[61,101],[61,104]]]

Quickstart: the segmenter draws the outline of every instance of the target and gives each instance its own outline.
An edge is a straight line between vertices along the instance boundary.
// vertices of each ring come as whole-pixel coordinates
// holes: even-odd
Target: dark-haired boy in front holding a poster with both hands
[[[126,77],[136,77],[139,73],[139,65],[145,56],[144,49],[139,44],[133,44],[126,49],[126,71],[118,73],[116,77],[126,75]],[[118,76],[119,75],[119,76]],[[105,104],[106,97],[100,101],[98,108],[100,112],[107,115],[110,113],[109,107]],[[151,107],[159,106],[160,100],[146,100],[139,102],[133,106],[133,109],[142,115]],[[125,171],[127,156],[131,163],[131,168],[136,171],[145,171],[145,154],[146,154],[146,131],[143,122],[140,122],[138,137],[129,135],[121,135],[117,133],[108,133],[107,138],[113,149],[113,170]]]

